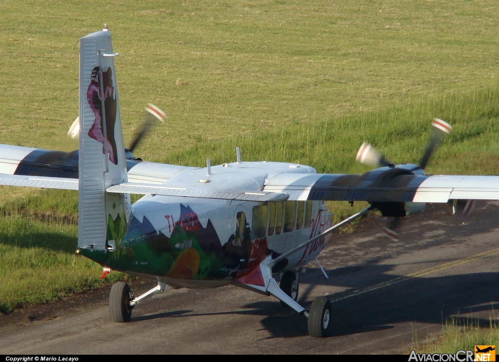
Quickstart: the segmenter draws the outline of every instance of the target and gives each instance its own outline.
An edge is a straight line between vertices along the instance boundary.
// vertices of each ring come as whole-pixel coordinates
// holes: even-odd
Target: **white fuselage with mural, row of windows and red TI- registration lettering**
[[[225,164],[189,170],[168,181],[210,179],[224,189],[261,190],[271,172],[315,173],[306,166],[281,163]],[[212,186],[213,187],[213,186]],[[209,288],[239,281],[254,284],[251,271],[320,234],[331,225],[322,201],[249,202],[147,195],[132,205],[125,226],[111,224],[103,254],[81,250],[103,266],[157,278],[178,287]],[[123,228],[126,228],[126,231]],[[120,236],[120,229],[123,233]],[[289,255],[272,272],[296,269],[313,259],[329,235]]]

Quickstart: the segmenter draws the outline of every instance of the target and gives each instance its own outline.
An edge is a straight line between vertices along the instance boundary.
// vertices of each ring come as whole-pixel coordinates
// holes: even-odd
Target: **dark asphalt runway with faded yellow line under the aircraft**
[[[306,319],[275,298],[228,286],[160,294],[127,324],[109,321],[106,302],[88,304],[0,332],[0,354],[408,353],[450,318],[486,326],[499,309],[499,203],[479,202],[467,218],[450,211],[404,219],[398,242],[375,219],[335,235],[319,255],[329,279],[315,263],[300,275],[300,303],[333,301],[328,338],[309,337]]]

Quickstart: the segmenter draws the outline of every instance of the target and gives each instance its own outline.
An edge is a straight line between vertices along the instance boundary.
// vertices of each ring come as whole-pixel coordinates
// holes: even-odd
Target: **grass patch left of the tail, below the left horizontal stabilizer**
[[[0,312],[46,303],[126,278],[75,255],[74,191],[3,190],[0,203]],[[75,203],[76,202],[76,203]]]

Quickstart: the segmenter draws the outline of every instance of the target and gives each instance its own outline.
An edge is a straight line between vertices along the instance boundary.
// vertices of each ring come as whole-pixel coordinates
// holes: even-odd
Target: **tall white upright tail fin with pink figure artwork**
[[[107,28],[80,39],[78,246],[104,253],[122,238],[131,211],[129,194],[105,191],[128,181],[115,55]]]

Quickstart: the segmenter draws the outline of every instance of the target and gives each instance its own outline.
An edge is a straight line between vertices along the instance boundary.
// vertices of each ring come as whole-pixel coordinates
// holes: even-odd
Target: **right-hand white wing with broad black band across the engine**
[[[280,174],[270,179],[263,190],[288,193],[290,200],[447,202],[450,199],[499,199],[498,176],[387,175],[378,172],[382,169],[387,168],[364,175]]]

